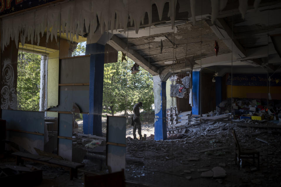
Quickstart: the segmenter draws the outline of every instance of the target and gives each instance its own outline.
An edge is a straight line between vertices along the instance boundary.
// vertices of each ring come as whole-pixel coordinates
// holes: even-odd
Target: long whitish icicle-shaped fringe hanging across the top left
[[[84,24],[86,32],[89,33],[89,39],[97,29],[101,33],[106,30],[113,32],[114,29],[126,31],[128,15],[131,25],[134,24],[138,33],[140,24],[144,22],[145,13],[148,13],[151,24],[152,4],[156,4],[161,20],[166,2],[169,3],[168,16],[173,29],[177,0],[74,0],[2,18],[1,48],[4,50],[4,47],[9,44],[10,37],[18,47],[19,36],[22,45],[26,41],[39,45],[40,37],[44,35],[45,30],[47,30],[47,41],[49,37],[51,40],[53,38],[57,40],[58,31],[60,34],[65,32],[67,38],[73,41],[74,37],[78,38],[78,35],[83,33]],[[98,28],[97,22],[100,23]]]

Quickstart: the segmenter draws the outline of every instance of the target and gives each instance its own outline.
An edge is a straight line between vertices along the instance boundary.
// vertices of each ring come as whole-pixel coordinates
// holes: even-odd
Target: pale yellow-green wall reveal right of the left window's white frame
[[[57,106],[59,101],[59,51],[48,56],[47,107]],[[56,112],[47,112],[48,117],[58,117]]]

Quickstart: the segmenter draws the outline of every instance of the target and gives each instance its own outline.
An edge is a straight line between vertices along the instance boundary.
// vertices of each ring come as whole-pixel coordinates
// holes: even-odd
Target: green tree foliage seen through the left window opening
[[[17,97],[19,110],[39,111],[41,55],[18,52]]]

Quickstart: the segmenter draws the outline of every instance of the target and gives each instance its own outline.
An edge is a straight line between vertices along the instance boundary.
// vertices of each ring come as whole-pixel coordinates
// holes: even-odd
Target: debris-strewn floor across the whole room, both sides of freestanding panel
[[[221,116],[222,117],[222,116]],[[196,120],[184,134],[169,136],[169,140],[131,140],[127,138],[126,180],[148,186],[280,186],[281,185],[281,129],[275,124],[253,120]],[[193,123],[196,122],[197,123]],[[256,125],[256,127],[245,127]],[[153,123],[146,124],[147,130]],[[257,128],[257,126],[259,128]],[[270,128],[269,128],[270,127]],[[130,129],[131,127],[128,127]],[[231,129],[234,128],[241,147],[260,152],[260,169],[252,159],[242,159],[241,169],[235,165],[235,144]],[[78,136],[77,143],[89,143],[96,138]],[[178,139],[175,139],[178,138]],[[82,144],[84,145],[84,144]],[[102,146],[102,145],[99,145]],[[89,151],[90,150],[90,151]],[[85,167],[78,169],[78,179],[69,180],[69,172],[38,163],[25,162],[43,169],[40,186],[83,186],[83,174],[107,173],[89,149],[83,159]],[[101,157],[105,157],[101,155]],[[103,158],[105,160],[105,158]],[[256,160],[257,161],[257,160]],[[1,160],[1,166],[15,165],[14,157]],[[135,185],[132,182],[126,186]]]

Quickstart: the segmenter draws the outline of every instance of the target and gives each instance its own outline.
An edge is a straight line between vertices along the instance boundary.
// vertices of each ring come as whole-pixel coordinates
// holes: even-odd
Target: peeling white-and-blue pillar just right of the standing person
[[[161,82],[159,75],[153,76],[155,105],[154,139],[167,140],[166,126],[166,82]]]

